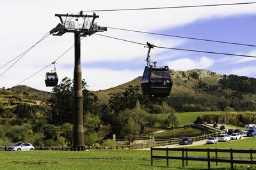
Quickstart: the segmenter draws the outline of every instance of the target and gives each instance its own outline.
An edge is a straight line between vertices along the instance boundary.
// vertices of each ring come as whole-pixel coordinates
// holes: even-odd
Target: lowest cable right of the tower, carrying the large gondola
[[[130,40],[127,40],[127,39],[115,38],[115,37],[105,36],[105,35],[101,35],[101,34],[95,34],[95,35],[104,36],[104,37],[112,38],[112,39],[118,39],[120,41],[126,41],[126,42],[129,42],[129,43],[136,43],[138,45],[147,45],[147,44],[144,44],[144,43],[139,43],[139,42],[136,42],[136,41],[130,41]],[[221,53],[221,52],[208,52],[208,51],[190,50],[190,49],[184,49],[184,48],[171,48],[171,47],[165,47],[165,46],[156,46],[155,48],[164,48],[164,49],[170,49],[170,50],[182,50],[182,51],[187,51],[187,52],[214,53],[214,54],[220,54],[220,55],[234,55],[234,56],[239,56],[239,57],[256,58],[256,56],[253,56],[253,55],[241,55],[241,54],[235,54],[235,53]]]

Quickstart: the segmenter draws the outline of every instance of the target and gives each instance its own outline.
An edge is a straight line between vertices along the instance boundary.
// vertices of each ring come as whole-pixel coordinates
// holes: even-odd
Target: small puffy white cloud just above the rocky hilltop
[[[177,59],[166,62],[170,69],[186,71],[189,69],[207,69],[214,64],[214,60],[202,57],[200,60],[192,60],[189,58]]]

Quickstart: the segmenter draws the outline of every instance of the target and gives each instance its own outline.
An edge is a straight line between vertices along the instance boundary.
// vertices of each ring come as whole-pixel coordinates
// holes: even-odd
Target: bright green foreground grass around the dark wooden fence
[[[256,149],[256,138],[193,148]],[[150,150],[87,150],[85,152],[47,150],[0,152],[0,154],[0,169],[170,169],[170,167],[171,169],[207,169],[207,162],[197,161],[189,161],[189,166],[182,168],[181,160],[170,160],[170,167],[166,167],[164,159],[154,159],[154,166],[150,166]],[[154,155],[165,155],[165,152],[154,151]],[[181,153],[169,152],[169,155],[180,156]],[[192,156],[192,153],[189,155]],[[206,156],[207,154],[197,153],[196,155]],[[238,155],[234,155],[236,156]],[[230,164],[225,163],[219,163],[218,167],[214,165],[215,163],[212,162],[212,169],[230,168]],[[250,165],[234,164],[234,166],[236,169],[244,169],[243,167]],[[252,169],[256,169],[256,166],[252,166]]]

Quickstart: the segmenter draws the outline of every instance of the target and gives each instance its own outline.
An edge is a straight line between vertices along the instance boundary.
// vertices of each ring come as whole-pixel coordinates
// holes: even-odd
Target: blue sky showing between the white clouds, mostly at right
[[[157,32],[161,34],[171,34],[175,36],[187,36],[191,38],[203,38],[203,39],[212,39],[217,41],[227,41],[227,42],[233,42],[233,43],[244,43],[244,44],[256,45],[256,39],[255,39],[256,24],[255,22],[253,22],[254,20],[256,20],[256,15],[237,15],[237,16],[223,17],[223,18],[209,18],[207,20],[197,20],[196,22],[193,22],[191,24],[182,25],[180,27],[175,27],[173,29],[163,29],[163,30],[156,30],[152,32]],[[134,34],[134,33],[130,32],[130,34]],[[175,41],[182,38],[170,37],[170,39],[173,39],[173,41]],[[184,43],[175,47],[191,49],[191,50],[203,50],[203,51],[209,51],[209,52],[222,52],[222,53],[234,53],[234,54],[249,54],[250,52],[255,50],[255,47],[253,46],[230,45],[226,43],[214,43],[209,41],[198,41],[193,39],[183,39],[183,40],[185,41]],[[140,42],[145,43],[145,41],[147,41],[147,39]],[[166,44],[165,46],[168,47],[168,44]],[[141,48],[143,48],[143,46],[141,46]],[[152,53],[153,52],[154,52],[154,49],[152,49]],[[232,71],[232,69],[236,69],[237,67],[254,67],[256,63],[256,61],[239,62],[239,63],[232,62],[232,60],[244,59],[244,57],[218,55],[218,54],[211,54],[211,53],[182,52],[177,50],[166,50],[164,52],[157,53],[157,55],[172,56],[173,53],[178,53],[178,52],[179,52],[179,55],[177,55],[174,58],[171,57],[171,59],[170,58],[159,59],[159,57],[154,55],[151,55],[151,58],[153,60],[159,59],[158,60],[159,66],[163,66],[163,65],[166,65],[166,62],[172,62],[172,60],[178,60],[184,57],[192,60],[200,60],[201,57],[207,57],[215,61],[214,64],[212,64],[211,67],[207,67],[207,69],[210,69],[211,71],[215,71],[216,73],[221,73],[221,74],[232,74],[230,72]],[[147,57],[147,48],[145,48],[144,58],[145,57]],[[118,61],[102,61],[102,62],[84,62],[83,66],[88,68],[115,69],[116,71],[122,70],[122,69],[140,70],[140,69],[143,69],[143,66],[145,66],[146,64],[144,58],[143,56],[141,56],[140,60],[133,59],[128,61],[118,60]],[[224,60],[224,59],[227,59],[227,60]],[[180,68],[182,69],[182,66],[180,66]],[[255,77],[254,73],[248,73],[246,75]]]

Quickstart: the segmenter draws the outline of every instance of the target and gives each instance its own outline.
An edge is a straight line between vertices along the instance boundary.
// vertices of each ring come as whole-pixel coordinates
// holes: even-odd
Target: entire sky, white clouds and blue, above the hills
[[[83,10],[84,15],[92,15],[92,12],[86,11],[246,2],[253,1],[0,1],[2,16],[0,67],[27,50],[56,27],[60,23],[60,19],[54,16],[56,13],[77,14]],[[100,17],[95,22],[105,27],[256,45],[255,8],[256,4],[245,4],[164,10],[102,11],[96,13]],[[256,56],[256,48],[253,46],[228,45],[115,29],[98,33],[144,44],[148,41],[156,46]],[[20,81],[51,64],[72,45],[74,45],[73,33],[66,33],[63,36],[48,36],[12,67],[10,66],[16,60],[0,69],[0,74],[2,74],[10,67],[0,76],[0,88],[7,89],[19,84],[51,92],[52,87],[45,87],[44,78],[46,72],[54,69],[52,65],[28,80],[22,83]],[[142,76],[147,65],[145,61],[147,50],[148,48],[144,48],[143,45],[95,34],[83,38],[81,40],[82,77],[87,82],[88,89],[109,89]],[[209,69],[220,74],[237,74],[256,78],[255,58],[161,48],[152,49],[150,56],[152,60],[157,61],[158,66],[169,66],[170,69],[176,71]],[[59,83],[66,76],[73,78],[73,48],[57,60],[56,69]]]

